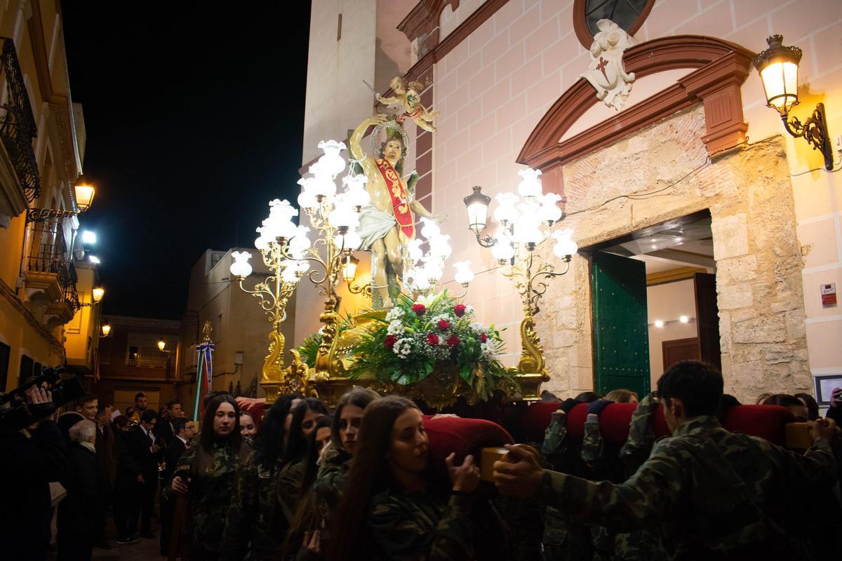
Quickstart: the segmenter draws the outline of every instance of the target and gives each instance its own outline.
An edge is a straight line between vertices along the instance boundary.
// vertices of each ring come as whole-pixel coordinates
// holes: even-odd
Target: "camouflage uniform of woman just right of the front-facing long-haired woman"
[[[289,527],[288,516],[275,492],[280,468],[267,470],[252,453],[237,469],[237,487],[228,508],[222,559],[239,561],[251,551],[252,559],[278,558]]]

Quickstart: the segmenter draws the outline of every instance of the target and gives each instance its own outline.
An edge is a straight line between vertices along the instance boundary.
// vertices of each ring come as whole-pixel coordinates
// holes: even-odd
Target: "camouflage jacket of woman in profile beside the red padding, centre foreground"
[[[386,490],[374,495],[367,526],[381,553],[372,558],[472,559],[473,501],[462,494],[450,495],[450,500],[429,492]]]

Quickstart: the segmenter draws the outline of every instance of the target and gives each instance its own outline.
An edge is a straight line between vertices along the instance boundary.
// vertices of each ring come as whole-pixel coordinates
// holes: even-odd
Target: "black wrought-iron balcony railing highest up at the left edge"
[[[8,37],[0,37],[0,41],[3,42],[0,83],[3,80],[6,83],[6,102],[0,105],[0,141],[12,160],[26,200],[32,203],[41,196],[38,162],[35,161],[35,151],[32,149],[32,139],[37,135],[35,116],[29,105],[14,42]]]

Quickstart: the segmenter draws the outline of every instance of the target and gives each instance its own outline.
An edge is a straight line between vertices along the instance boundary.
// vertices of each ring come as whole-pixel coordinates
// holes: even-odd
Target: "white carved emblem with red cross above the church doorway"
[[[634,72],[626,72],[623,67],[623,51],[637,45],[637,41],[610,19],[600,19],[596,26],[600,31],[590,45],[593,60],[582,77],[596,89],[597,99],[619,111],[632,92],[635,79]]]

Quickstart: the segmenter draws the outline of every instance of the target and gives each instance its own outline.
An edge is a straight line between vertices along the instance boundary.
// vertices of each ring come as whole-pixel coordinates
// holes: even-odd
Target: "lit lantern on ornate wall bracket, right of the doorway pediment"
[[[817,103],[813,114],[802,122],[793,117],[789,119],[790,109],[798,104],[798,63],[802,51],[798,47],[784,46],[783,35],[772,35],[766,40],[769,48],[754,58],[754,67],[763,82],[766,106],[775,108],[781,114],[781,120],[787,132],[795,138],[804,140],[824,156],[824,167],[834,168],[834,151],[830,146],[828,120],[824,114],[824,103]]]

